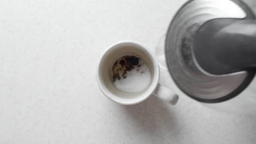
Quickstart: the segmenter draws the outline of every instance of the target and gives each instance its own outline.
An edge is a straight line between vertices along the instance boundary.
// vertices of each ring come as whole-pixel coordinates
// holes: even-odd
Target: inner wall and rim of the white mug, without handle
[[[151,73],[150,85],[141,92],[128,93],[120,91],[114,86],[113,82],[113,65],[117,59],[123,56],[135,56],[141,58],[147,65]],[[155,76],[158,70],[158,65],[154,61],[152,55],[144,49],[142,46],[132,43],[121,43],[109,49],[101,59],[99,76],[102,82],[102,88],[104,93],[110,99],[122,103],[122,104],[135,104],[137,101],[140,102],[146,99],[155,89],[158,83],[158,76]],[[154,83],[154,85],[152,85]]]

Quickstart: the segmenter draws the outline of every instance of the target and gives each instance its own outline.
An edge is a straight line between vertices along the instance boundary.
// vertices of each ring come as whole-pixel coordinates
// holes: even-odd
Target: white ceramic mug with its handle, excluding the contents
[[[147,63],[150,73],[151,82],[148,88],[139,93],[127,93],[120,91],[114,86],[111,71],[114,62],[123,56],[137,56]],[[100,58],[97,67],[97,82],[101,91],[110,100],[122,105],[134,105],[141,103],[151,95],[156,95],[162,100],[175,105],[179,99],[178,95],[171,89],[159,84],[160,69],[155,56],[146,50],[143,46],[130,41],[123,41],[110,46]]]

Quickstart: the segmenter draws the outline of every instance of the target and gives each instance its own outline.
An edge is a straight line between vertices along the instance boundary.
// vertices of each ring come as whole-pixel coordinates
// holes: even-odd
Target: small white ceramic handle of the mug
[[[160,84],[153,95],[171,105],[176,105],[179,100],[179,96],[176,93],[174,93],[170,88],[161,86]]]

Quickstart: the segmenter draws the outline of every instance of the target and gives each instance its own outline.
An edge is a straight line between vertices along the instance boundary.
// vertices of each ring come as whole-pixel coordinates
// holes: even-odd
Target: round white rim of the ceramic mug
[[[147,94],[146,97],[142,97],[141,99],[137,100],[137,101],[134,101],[134,102],[124,102],[124,101],[118,101],[118,100],[115,100],[111,97],[111,95],[114,95],[113,93],[109,93],[109,92],[106,92],[105,89],[103,88],[103,83],[102,83],[102,80],[100,80],[100,68],[101,68],[101,63],[102,63],[102,59],[103,57],[106,55],[106,53],[108,53],[108,51],[116,48],[118,45],[129,45],[129,44],[132,44],[132,45],[136,45],[138,46],[139,49],[143,49],[144,51],[147,52],[147,55],[149,56],[150,60],[153,62],[153,69],[154,69],[154,76],[153,76],[153,82],[151,83],[151,85],[149,86],[149,89],[147,89],[146,92],[144,92],[143,94]],[[120,48],[121,49],[121,48]],[[121,105],[135,105],[135,104],[138,104],[138,103],[141,103],[142,101],[148,99],[155,91],[155,89],[157,88],[158,86],[158,83],[159,83],[159,79],[160,79],[160,68],[159,68],[159,64],[158,62],[156,61],[156,57],[154,56],[154,54],[150,51],[150,50],[147,50],[144,46],[142,46],[141,44],[138,44],[134,41],[130,41],[130,40],[124,40],[124,41],[119,41],[118,43],[114,43],[112,45],[110,45],[101,55],[100,57],[100,61],[98,62],[98,65],[97,65],[97,83],[98,83],[98,87],[100,87],[102,93],[110,100],[114,101],[115,103],[118,103],[118,104],[121,104]],[[143,95],[142,94],[142,95]],[[137,98],[137,97],[136,97]]]

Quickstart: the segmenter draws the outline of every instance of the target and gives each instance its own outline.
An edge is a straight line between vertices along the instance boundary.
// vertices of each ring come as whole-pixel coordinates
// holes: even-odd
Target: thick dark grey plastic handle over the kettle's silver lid
[[[196,33],[194,56],[207,73],[256,70],[256,21],[215,19]]]

